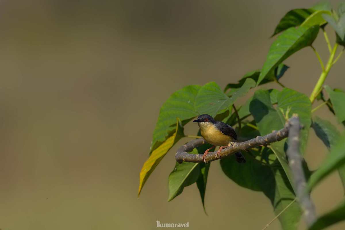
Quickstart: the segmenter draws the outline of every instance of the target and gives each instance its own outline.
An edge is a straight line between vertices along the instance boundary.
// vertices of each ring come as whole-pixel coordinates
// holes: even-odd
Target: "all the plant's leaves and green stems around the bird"
[[[333,46],[324,31],[327,25],[336,33]],[[330,51],[326,66],[313,47],[318,34],[322,34],[319,33],[320,30],[323,31]],[[332,10],[328,3],[321,3],[309,9],[290,10],[279,21],[272,37],[277,34],[279,35],[272,42],[261,69],[246,73],[237,83],[227,84],[224,90],[216,82],[209,82],[204,86],[186,86],[167,99],[160,109],[149,158],[140,172],[138,194],[167,152],[178,140],[188,137],[184,134],[183,127],[199,114],[210,114],[216,120],[234,126],[240,141],[282,129],[289,116],[298,114],[300,123],[304,127],[300,132],[301,157],[304,156],[310,129],[314,130],[316,136],[329,150],[321,167],[313,174],[309,171],[307,163],[303,162],[305,177],[310,178],[308,191],[334,170],[338,170],[345,189],[345,134],[341,134],[337,126],[331,122],[313,117],[315,110],[327,106],[337,121],[345,124],[345,93],[331,86],[323,86],[329,70],[341,57],[342,51],[336,55],[337,48],[345,44],[345,4],[340,4],[336,10]],[[280,79],[289,68],[283,64],[283,61],[305,47],[312,47],[323,69],[319,80],[311,81],[315,87],[310,97],[294,90],[293,84],[285,87],[280,83]],[[257,88],[270,82],[277,83],[279,90]],[[253,96],[245,103],[236,105],[237,109],[235,109],[234,103],[237,99],[246,96],[249,91],[253,92]],[[316,106],[314,104],[316,101],[321,104]],[[242,124],[242,128],[239,124]],[[243,153],[247,159],[245,164],[239,164],[234,157],[228,157],[220,160],[220,166],[225,175],[239,186],[263,192],[272,204],[282,228],[294,230],[301,219],[302,211],[298,202],[295,202],[294,179],[286,158],[287,145],[286,139],[283,139],[269,146],[253,148]],[[191,153],[204,153],[209,147],[210,145],[206,144]],[[171,162],[171,164],[173,169],[168,177],[168,201],[179,196],[185,187],[196,184],[205,209],[210,164],[190,162],[181,164]],[[345,219],[344,213],[345,204],[341,201],[334,210],[319,217],[310,229],[324,229],[342,221]]]

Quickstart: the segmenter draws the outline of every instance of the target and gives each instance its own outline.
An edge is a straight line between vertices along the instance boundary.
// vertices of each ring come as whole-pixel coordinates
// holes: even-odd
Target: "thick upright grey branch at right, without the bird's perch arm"
[[[294,177],[298,203],[303,210],[307,226],[311,227],[316,220],[316,214],[310,194],[306,190],[306,180],[302,167],[303,158],[299,153],[299,130],[301,127],[298,116],[294,115],[289,120],[289,126],[289,147],[286,151],[286,155],[289,159],[289,166]]]

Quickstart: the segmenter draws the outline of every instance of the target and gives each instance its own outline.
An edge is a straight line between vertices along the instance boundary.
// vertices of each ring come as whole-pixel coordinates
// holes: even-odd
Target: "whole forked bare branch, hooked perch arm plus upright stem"
[[[267,146],[269,143],[283,140],[288,137],[289,147],[287,149],[286,155],[289,159],[289,167],[292,170],[295,193],[297,200],[303,210],[304,218],[307,226],[311,226],[316,220],[314,204],[310,198],[310,194],[306,191],[306,179],[304,176],[302,168],[303,157],[299,152],[299,132],[303,126],[299,123],[299,118],[297,114],[288,119],[285,123],[283,129],[278,131],[272,131],[272,133],[266,136],[257,136],[256,138],[234,143],[232,146],[227,147],[220,151],[219,158],[217,152],[208,153],[205,157],[207,162],[218,160],[224,157],[231,156],[238,151],[248,151],[254,147]],[[176,154],[175,159],[177,162],[204,162],[203,154],[191,154],[188,153],[194,148],[197,148],[203,144],[207,143],[204,138],[195,139],[189,141],[187,144],[181,146]],[[286,207],[287,208],[287,207]]]

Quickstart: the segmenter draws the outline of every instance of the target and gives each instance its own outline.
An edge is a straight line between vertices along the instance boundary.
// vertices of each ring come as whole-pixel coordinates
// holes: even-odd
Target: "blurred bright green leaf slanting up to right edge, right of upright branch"
[[[334,170],[345,164],[345,135],[339,138],[331,152],[321,164],[320,168],[310,178],[308,188],[313,188],[319,181],[325,178]]]

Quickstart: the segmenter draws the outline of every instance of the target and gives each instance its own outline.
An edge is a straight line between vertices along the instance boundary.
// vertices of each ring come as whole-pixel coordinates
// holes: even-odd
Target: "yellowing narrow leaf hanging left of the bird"
[[[181,120],[177,118],[175,133],[172,134],[167,140],[165,140],[158,148],[152,151],[150,157],[145,161],[144,166],[142,166],[140,171],[140,181],[139,181],[139,191],[138,197],[144,186],[145,182],[157,167],[158,163],[163,159],[165,154],[171,149],[171,147],[184,137],[183,126]]]

